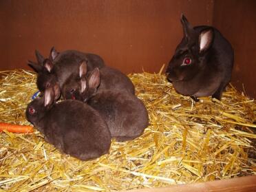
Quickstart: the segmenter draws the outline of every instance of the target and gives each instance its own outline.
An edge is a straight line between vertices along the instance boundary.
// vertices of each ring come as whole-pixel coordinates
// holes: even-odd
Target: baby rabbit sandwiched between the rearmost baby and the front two
[[[80,100],[80,79],[82,76],[85,76],[85,74],[86,76],[89,76],[90,73],[91,72],[87,72],[87,62],[82,61],[79,67],[79,72],[72,74],[63,84],[61,90],[63,98],[75,98],[76,95],[76,99]],[[83,85],[85,85],[85,83]],[[100,85],[98,87],[98,91],[103,89],[111,89],[135,94],[134,84],[131,82],[131,80],[125,74],[122,74],[122,72],[107,66],[100,68]],[[76,90],[78,94],[74,93]]]

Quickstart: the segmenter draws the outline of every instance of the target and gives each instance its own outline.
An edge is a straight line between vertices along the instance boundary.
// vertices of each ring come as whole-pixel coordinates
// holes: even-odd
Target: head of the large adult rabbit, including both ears
[[[184,37],[175,50],[167,67],[167,79],[171,82],[189,81],[206,67],[209,47],[213,43],[213,28],[197,32],[182,14]]]

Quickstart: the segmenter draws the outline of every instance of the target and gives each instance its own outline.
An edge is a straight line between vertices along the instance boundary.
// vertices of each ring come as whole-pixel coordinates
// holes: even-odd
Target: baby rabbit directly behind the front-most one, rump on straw
[[[111,137],[116,138],[117,141],[137,138],[149,125],[147,109],[134,94],[115,89],[99,90],[98,68],[95,68],[88,77],[81,72],[81,82],[74,87],[76,89],[68,96],[83,100],[96,109],[107,122]]]

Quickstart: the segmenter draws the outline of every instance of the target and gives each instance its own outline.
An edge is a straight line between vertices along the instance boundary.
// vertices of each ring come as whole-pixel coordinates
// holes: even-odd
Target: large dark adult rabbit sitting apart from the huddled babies
[[[215,28],[192,28],[181,18],[184,37],[167,67],[167,79],[177,92],[197,97],[212,96],[220,100],[231,80],[233,48]]]

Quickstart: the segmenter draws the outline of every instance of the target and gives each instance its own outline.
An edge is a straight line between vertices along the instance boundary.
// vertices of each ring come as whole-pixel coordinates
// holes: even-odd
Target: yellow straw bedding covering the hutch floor
[[[0,134],[0,191],[128,190],[255,174],[255,100],[229,85],[222,101],[194,103],[161,72],[129,75],[149,112],[149,127],[135,140],[112,140],[109,154],[96,160],[61,153],[36,128],[33,134]],[[36,92],[36,74],[0,76],[0,122],[29,125],[25,108]]]

